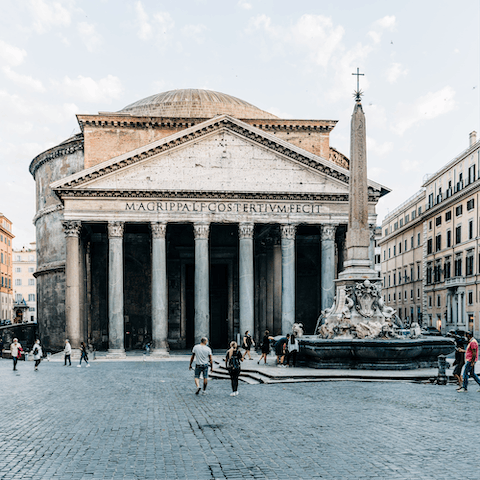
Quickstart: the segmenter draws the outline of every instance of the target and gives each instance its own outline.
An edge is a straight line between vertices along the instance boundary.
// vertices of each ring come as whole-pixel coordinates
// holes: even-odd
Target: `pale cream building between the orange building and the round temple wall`
[[[35,323],[37,321],[37,287],[33,276],[37,269],[35,242],[21,250],[13,251],[13,295],[16,323]],[[25,308],[23,305],[26,305]]]

